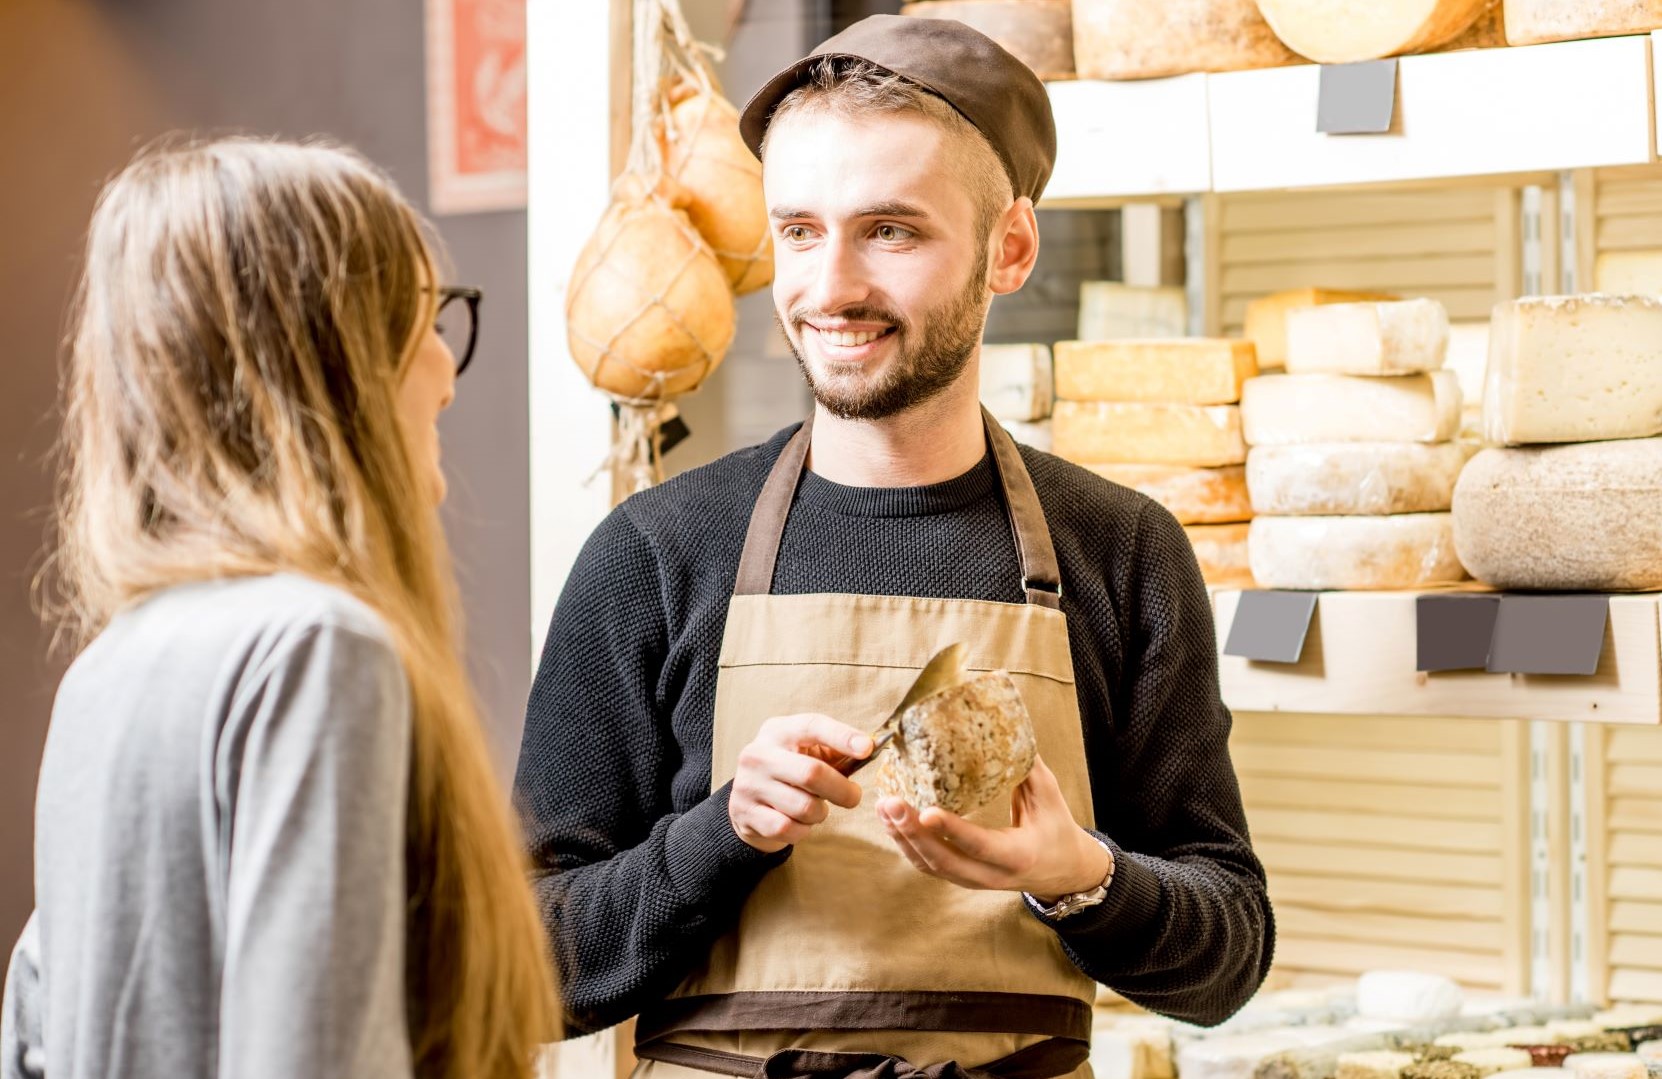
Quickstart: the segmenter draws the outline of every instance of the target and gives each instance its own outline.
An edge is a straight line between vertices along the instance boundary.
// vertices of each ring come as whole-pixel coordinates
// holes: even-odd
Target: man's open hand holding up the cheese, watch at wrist
[[[919,813],[899,798],[879,801],[878,818],[907,861],[959,888],[1025,891],[1050,904],[1090,891],[1112,868],[1102,845],[1074,821],[1044,760],[1015,788],[1009,828],[982,828],[939,806]]]

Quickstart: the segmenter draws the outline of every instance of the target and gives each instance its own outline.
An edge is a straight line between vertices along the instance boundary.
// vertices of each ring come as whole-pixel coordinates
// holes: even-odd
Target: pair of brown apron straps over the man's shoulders
[[[992,447],[992,464],[1004,487],[1010,530],[1015,534],[1015,555],[1022,565],[1022,592],[1025,592],[1029,604],[1059,610],[1062,607],[1062,570],[1055,560],[1050,527],[1045,524],[1032,475],[1027,474],[1027,464],[1015,447],[1015,439],[986,409],[981,411],[981,422],[987,432],[987,444]],[[735,595],[768,595],[773,592],[779,539],[784,535],[784,520],[791,514],[796,485],[808,466],[813,431],[814,417],[809,414],[801,429],[784,444],[784,452],[773,464],[773,471],[768,472],[768,482],[763,484],[761,494],[756,497],[756,509],[751,512],[750,529],[745,532],[745,554],[738,562]]]

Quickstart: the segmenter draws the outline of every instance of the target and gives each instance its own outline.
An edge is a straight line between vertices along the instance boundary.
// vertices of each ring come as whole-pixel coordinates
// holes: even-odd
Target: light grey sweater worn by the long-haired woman
[[[0,1079],[409,1076],[411,705],[301,577],[168,590],[58,688]]]

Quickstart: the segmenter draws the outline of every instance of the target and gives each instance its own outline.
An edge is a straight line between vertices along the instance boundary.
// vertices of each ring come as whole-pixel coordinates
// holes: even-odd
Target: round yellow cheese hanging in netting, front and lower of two
[[[572,269],[572,359],[618,397],[691,392],[733,342],[733,293],[685,203],[673,181],[647,193],[623,176]]]

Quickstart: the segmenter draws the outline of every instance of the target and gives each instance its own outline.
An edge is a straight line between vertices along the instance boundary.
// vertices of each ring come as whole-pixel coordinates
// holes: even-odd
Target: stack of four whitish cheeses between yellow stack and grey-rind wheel
[[[1416,589],[1466,577],[1448,512],[1471,447],[1448,313],[1429,299],[1300,308],[1286,374],[1246,382],[1251,570],[1265,589]]]

